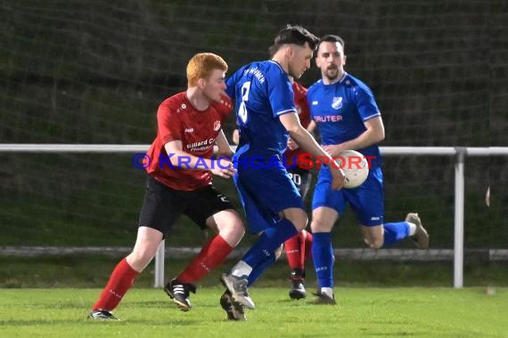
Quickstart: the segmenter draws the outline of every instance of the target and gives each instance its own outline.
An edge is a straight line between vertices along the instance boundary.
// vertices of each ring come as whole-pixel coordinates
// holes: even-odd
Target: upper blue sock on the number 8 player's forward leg
[[[277,221],[273,227],[263,231],[256,243],[250,247],[247,254],[243,255],[242,261],[249,264],[252,269],[255,269],[267,257],[274,256],[275,249],[281,246],[286,239],[295,236],[297,233],[298,231],[291,221],[285,218]]]

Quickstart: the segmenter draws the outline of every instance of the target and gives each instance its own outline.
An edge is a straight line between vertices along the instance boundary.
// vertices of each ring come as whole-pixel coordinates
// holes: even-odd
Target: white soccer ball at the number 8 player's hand
[[[340,169],[346,175],[344,188],[352,189],[361,185],[369,174],[369,163],[364,155],[355,150],[346,150],[338,157],[333,157],[340,165]]]

